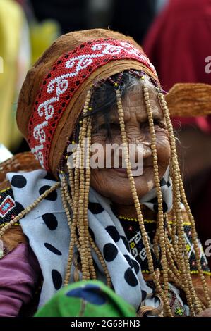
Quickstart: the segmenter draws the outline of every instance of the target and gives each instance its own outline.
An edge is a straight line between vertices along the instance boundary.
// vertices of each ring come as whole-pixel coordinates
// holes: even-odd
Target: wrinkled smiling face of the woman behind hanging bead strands
[[[149,92],[157,137],[156,147],[159,178],[161,179],[169,165],[170,146],[164,116],[153,87],[149,87]],[[136,85],[130,89],[123,98],[122,104],[128,144],[135,144],[135,162],[143,158],[143,174],[134,177],[138,197],[141,198],[155,185],[152,150],[150,149],[150,130],[145,101],[143,99],[143,88],[140,85]],[[105,153],[106,144],[116,143],[121,145],[122,143],[117,111],[111,111],[109,124],[111,127],[111,138],[107,136],[107,128],[102,115],[97,114],[97,118],[93,118],[92,120],[92,144],[102,144],[104,147],[104,158],[107,157]],[[143,144],[143,148],[139,148],[138,144]],[[114,154],[115,149],[112,158],[114,158]],[[123,154],[120,153],[119,169],[115,169],[114,167],[92,169],[90,186],[96,189],[97,192],[100,192],[102,196],[106,196],[111,201],[114,201],[114,203],[133,204],[127,172],[126,169],[121,168],[123,164],[122,157]]]

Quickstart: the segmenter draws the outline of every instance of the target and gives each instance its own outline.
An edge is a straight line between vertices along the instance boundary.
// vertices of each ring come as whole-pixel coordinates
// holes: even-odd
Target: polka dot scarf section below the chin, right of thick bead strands
[[[88,208],[89,226],[95,234],[95,243],[107,263],[114,291],[132,306],[138,308],[140,302],[143,301],[141,291],[150,294],[152,289],[143,279],[141,269],[133,263],[134,258],[131,251],[128,251],[123,227],[111,210],[111,201],[103,198],[92,187],[89,200],[89,206],[91,206]],[[93,213],[92,206],[97,206],[97,204],[101,206],[101,213],[98,212],[100,208],[95,208],[96,213]],[[98,261],[95,262],[98,265]]]

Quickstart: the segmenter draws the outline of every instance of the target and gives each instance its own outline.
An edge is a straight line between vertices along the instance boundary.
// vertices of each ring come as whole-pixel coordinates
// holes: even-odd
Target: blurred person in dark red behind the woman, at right
[[[155,63],[166,91],[176,82],[211,84],[207,63],[211,56],[210,38],[210,0],[169,1],[167,8],[153,23],[144,42],[145,52],[150,61]],[[211,235],[211,118],[173,120],[175,126],[178,122],[181,123],[181,149],[185,151],[181,158],[184,158],[186,167],[181,164],[181,169],[186,192],[198,233],[206,248],[207,239]]]

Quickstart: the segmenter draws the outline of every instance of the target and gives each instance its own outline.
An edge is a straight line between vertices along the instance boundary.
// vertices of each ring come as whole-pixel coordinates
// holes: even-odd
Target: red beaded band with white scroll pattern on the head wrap
[[[49,170],[49,151],[56,126],[80,85],[109,61],[132,59],[143,63],[157,77],[154,66],[133,44],[112,38],[97,39],[63,54],[44,77],[28,126],[28,143],[35,158]]]

